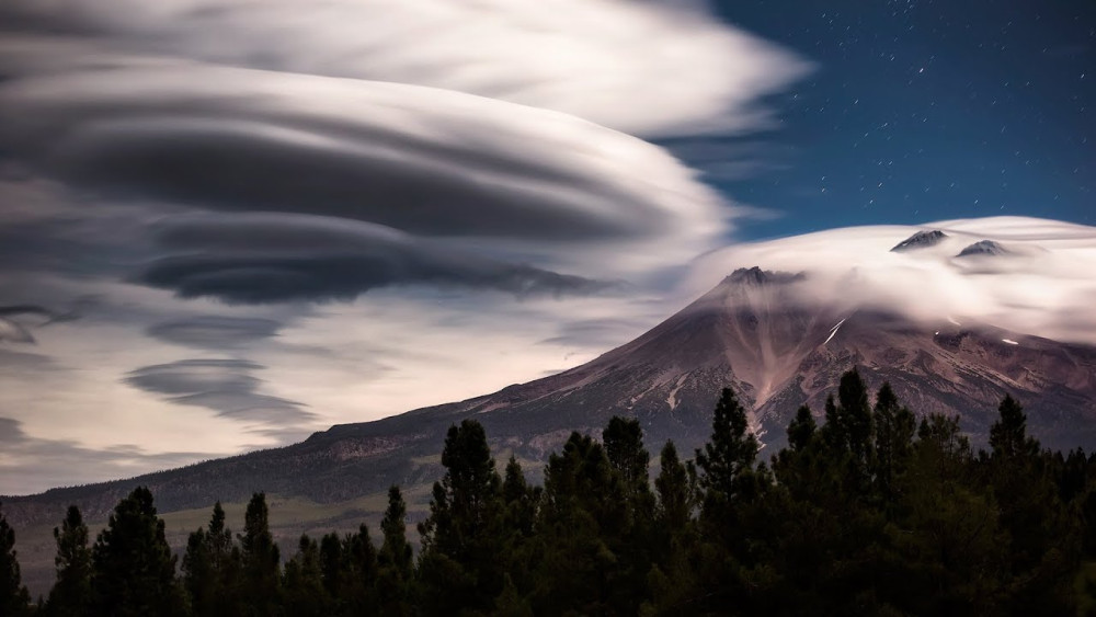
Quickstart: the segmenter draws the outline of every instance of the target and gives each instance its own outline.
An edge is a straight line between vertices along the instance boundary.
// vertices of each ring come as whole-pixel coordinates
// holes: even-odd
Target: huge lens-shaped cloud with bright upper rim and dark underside
[[[114,199],[568,242],[708,235],[719,218],[660,148],[456,92],[122,65],[14,80],[0,110],[12,157]]]

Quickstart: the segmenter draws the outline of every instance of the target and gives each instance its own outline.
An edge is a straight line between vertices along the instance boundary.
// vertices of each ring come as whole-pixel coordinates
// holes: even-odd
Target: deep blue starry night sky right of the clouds
[[[740,237],[994,215],[1096,222],[1096,3],[734,0],[720,12],[817,64],[770,98],[781,122],[750,139],[758,173],[713,174],[786,215]]]

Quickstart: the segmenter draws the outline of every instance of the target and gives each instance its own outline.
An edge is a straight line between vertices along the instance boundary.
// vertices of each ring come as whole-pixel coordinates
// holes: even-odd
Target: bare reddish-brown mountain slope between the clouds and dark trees
[[[498,453],[540,460],[571,431],[600,434],[614,414],[638,418],[649,449],[672,438],[689,453],[708,436],[719,390],[733,387],[776,452],[799,405],[821,415],[842,373],[889,381],[917,413],[961,414],[984,443],[1001,399],[1027,408],[1046,446],[1096,449],[1096,347],[984,324],[913,322],[893,313],[818,306],[797,274],[739,270],[635,341],[571,370],[492,395],[361,424],[302,443],[141,478],[4,498],[15,524],[53,522],[69,503],[101,518],[135,484],[161,511],[241,501],[252,491],[341,502],[433,481],[450,424],[479,420]],[[536,472],[535,469],[529,471]]]

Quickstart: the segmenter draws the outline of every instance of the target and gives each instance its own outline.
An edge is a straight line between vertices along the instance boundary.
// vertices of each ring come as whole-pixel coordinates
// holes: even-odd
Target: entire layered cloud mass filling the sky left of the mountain
[[[0,469],[107,478],[585,359],[745,212],[644,139],[768,129],[808,70],[699,2],[3,2]]]

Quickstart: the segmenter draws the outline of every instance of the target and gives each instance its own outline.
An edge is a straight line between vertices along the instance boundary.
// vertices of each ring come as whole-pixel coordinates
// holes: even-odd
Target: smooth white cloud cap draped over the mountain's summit
[[[922,230],[932,247],[890,249]],[[994,241],[1003,254],[958,256]],[[1058,341],[1096,344],[1096,228],[1028,217],[923,226],[852,227],[738,244],[698,260],[688,288],[703,292],[737,267],[806,272],[809,301],[894,310],[918,320],[989,323]]]

